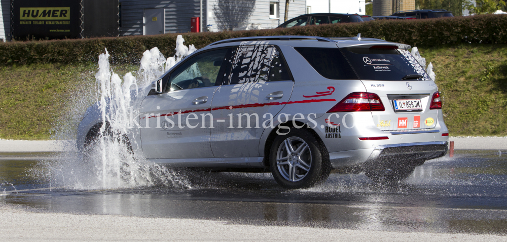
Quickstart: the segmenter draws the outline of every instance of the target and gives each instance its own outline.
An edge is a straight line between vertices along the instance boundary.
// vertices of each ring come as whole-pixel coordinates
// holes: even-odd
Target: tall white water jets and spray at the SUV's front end
[[[96,79],[96,106],[102,126],[98,137],[85,148],[83,155],[75,149],[56,161],[43,161],[32,169],[32,175],[65,189],[112,189],[163,185],[191,188],[183,174],[149,162],[141,154],[132,152],[140,144],[128,137],[133,132],[132,120],[138,116],[138,107],[150,90],[153,80],[170,67],[195,51],[183,46],[178,35],[176,55],[165,59],[158,48],[143,53],[137,75],[129,72],[122,78],[111,70],[109,53],[99,56]],[[178,44],[179,43],[179,44]],[[172,58],[172,59],[171,59]],[[135,76],[138,76],[136,78]],[[133,141],[133,143],[131,143]]]

